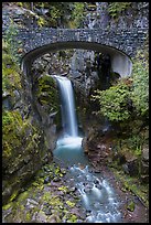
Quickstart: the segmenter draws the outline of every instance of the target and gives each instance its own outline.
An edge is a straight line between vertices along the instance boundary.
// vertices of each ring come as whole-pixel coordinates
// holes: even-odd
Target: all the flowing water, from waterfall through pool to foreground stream
[[[107,179],[91,171],[82,148],[83,137],[78,136],[74,93],[68,78],[54,76],[58,83],[62,100],[63,135],[54,150],[54,160],[60,160],[71,172],[78,190],[83,207],[88,212],[88,223],[118,223],[120,202]]]

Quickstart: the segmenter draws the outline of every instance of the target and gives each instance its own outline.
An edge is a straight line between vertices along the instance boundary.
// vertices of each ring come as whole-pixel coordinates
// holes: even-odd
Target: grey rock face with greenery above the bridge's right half
[[[123,3],[123,2],[122,2]],[[149,26],[149,2],[94,2],[84,25],[89,29],[134,29]]]

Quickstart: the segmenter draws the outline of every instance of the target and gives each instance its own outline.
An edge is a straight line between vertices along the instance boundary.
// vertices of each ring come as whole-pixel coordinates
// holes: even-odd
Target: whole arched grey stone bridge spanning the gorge
[[[32,65],[41,55],[66,49],[84,49],[109,54],[114,72],[121,76],[131,74],[131,57],[142,47],[148,30],[98,30],[98,29],[20,29],[17,35],[22,41],[22,65]]]

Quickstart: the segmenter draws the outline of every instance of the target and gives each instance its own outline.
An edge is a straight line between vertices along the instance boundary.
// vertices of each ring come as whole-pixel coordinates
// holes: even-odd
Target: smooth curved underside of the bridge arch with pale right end
[[[22,58],[22,68],[29,67],[32,63],[40,56],[48,53],[56,52],[60,50],[68,50],[68,49],[82,49],[101,52],[104,54],[108,54],[111,61],[111,69],[112,72],[118,73],[121,77],[127,77],[131,75],[132,63],[130,57],[112,46],[94,43],[94,42],[82,42],[82,41],[69,41],[69,42],[56,42],[50,43],[40,47],[36,47],[29,53],[26,53]]]

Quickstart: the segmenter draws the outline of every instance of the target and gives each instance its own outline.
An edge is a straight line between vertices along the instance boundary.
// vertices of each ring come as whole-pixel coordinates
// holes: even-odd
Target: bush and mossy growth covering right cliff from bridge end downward
[[[115,130],[112,144],[119,154],[115,159],[122,161],[118,162],[120,165],[126,163],[126,158],[133,161],[137,171],[131,174],[136,174],[142,180],[144,169],[141,160],[149,146],[148,44],[143,51],[138,52],[132,61],[131,77],[117,79],[106,90],[96,90],[93,100],[99,105],[99,110],[95,114],[107,118]],[[145,168],[148,168],[148,163]],[[125,172],[128,172],[126,168]],[[145,173],[148,172],[145,171]]]

